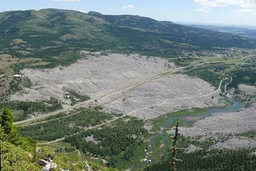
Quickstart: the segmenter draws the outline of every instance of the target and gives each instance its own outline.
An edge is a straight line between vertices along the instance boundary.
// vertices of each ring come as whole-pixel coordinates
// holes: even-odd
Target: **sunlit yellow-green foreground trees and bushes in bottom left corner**
[[[52,150],[49,147],[38,147],[36,140],[30,137],[21,137],[18,126],[13,124],[13,116],[8,108],[3,108],[0,113],[0,144],[1,144],[1,170],[82,170],[85,169],[84,162],[72,161],[64,153],[57,153],[59,149]],[[64,150],[73,151],[74,147]],[[56,167],[45,169],[41,160],[49,160]],[[90,169],[102,171],[115,171],[117,169],[104,168],[97,163],[89,163]]]

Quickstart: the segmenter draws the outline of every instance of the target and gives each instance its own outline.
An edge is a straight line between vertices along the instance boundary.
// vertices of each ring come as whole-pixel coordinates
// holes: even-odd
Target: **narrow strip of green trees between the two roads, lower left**
[[[86,109],[75,115],[67,115],[53,121],[21,127],[21,135],[35,140],[56,140],[58,138],[83,131],[110,120],[113,115],[102,111]]]

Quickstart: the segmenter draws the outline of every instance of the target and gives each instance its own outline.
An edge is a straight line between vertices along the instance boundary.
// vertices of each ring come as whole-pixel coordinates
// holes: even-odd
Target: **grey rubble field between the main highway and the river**
[[[218,93],[212,92],[215,92],[215,87],[202,79],[173,74],[146,82],[130,94],[103,107],[107,111],[151,119],[169,111],[218,105]]]

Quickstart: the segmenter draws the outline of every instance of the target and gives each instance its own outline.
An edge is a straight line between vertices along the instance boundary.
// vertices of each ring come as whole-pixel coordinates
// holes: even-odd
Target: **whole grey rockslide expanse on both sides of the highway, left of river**
[[[101,105],[105,111],[146,119],[169,111],[218,105],[219,89],[202,79],[175,74],[184,67],[176,68],[168,60],[138,54],[84,52],[84,56],[66,68],[23,70],[35,86],[11,95],[11,100],[51,97],[69,109],[67,93],[74,91],[92,98],[80,107]]]

